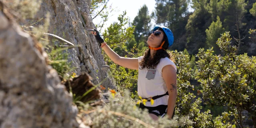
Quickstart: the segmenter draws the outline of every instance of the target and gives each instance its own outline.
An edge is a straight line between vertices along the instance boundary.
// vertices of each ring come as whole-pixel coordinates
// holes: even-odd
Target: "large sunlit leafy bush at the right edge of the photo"
[[[218,46],[224,52],[224,56],[213,55],[212,48],[204,51],[200,49],[196,80],[201,83],[203,98],[206,104],[211,106],[226,106],[228,114],[234,116],[230,121],[242,125],[243,110],[254,114],[252,110],[255,100],[256,57],[248,57],[247,54],[236,55],[236,47],[230,45],[229,32],[222,34],[218,39]],[[255,117],[253,115],[252,117]]]

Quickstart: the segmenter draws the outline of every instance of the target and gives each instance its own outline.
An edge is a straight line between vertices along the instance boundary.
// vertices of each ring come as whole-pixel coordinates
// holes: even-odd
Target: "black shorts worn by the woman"
[[[167,114],[167,105],[158,105],[155,107],[148,107],[148,106],[144,106],[144,104],[140,103],[139,108],[146,108],[148,109],[148,113],[150,114],[154,114],[156,116],[160,116],[161,118],[164,117]],[[174,109],[175,111],[175,109]],[[172,117],[174,116],[174,111],[172,114]]]

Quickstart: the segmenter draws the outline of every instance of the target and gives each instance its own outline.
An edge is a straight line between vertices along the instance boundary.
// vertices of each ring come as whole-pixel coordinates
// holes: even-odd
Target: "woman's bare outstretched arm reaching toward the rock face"
[[[104,42],[105,43],[105,42]],[[102,43],[101,45],[103,45]],[[120,57],[116,52],[114,52],[107,44],[102,47],[102,49],[106,52],[108,57],[115,63],[125,68],[138,70],[138,58],[124,58]]]

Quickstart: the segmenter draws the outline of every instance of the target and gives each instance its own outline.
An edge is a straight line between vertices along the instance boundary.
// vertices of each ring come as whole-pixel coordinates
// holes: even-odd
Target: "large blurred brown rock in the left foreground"
[[[2,11],[0,19],[0,128],[78,127],[72,96],[46,52]]]

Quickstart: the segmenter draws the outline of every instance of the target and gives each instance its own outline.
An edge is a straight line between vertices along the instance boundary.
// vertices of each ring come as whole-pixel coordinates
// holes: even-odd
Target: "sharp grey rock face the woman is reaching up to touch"
[[[87,30],[83,28],[79,13],[76,11],[77,5],[80,14],[84,18],[86,28],[93,29],[94,24],[89,14],[90,2],[91,0],[42,0],[41,8],[34,21],[45,17],[46,12],[50,12],[51,18],[48,33],[64,37],[65,40],[75,45],[80,45],[68,50],[69,61],[76,68],[76,74],[80,75],[87,72],[93,78],[94,84],[98,84],[104,78],[107,78],[103,85],[106,88],[115,88],[106,71],[99,69],[99,67],[106,65],[100,47],[92,34],[88,37]],[[40,24],[42,23],[38,22],[36,25]]]

